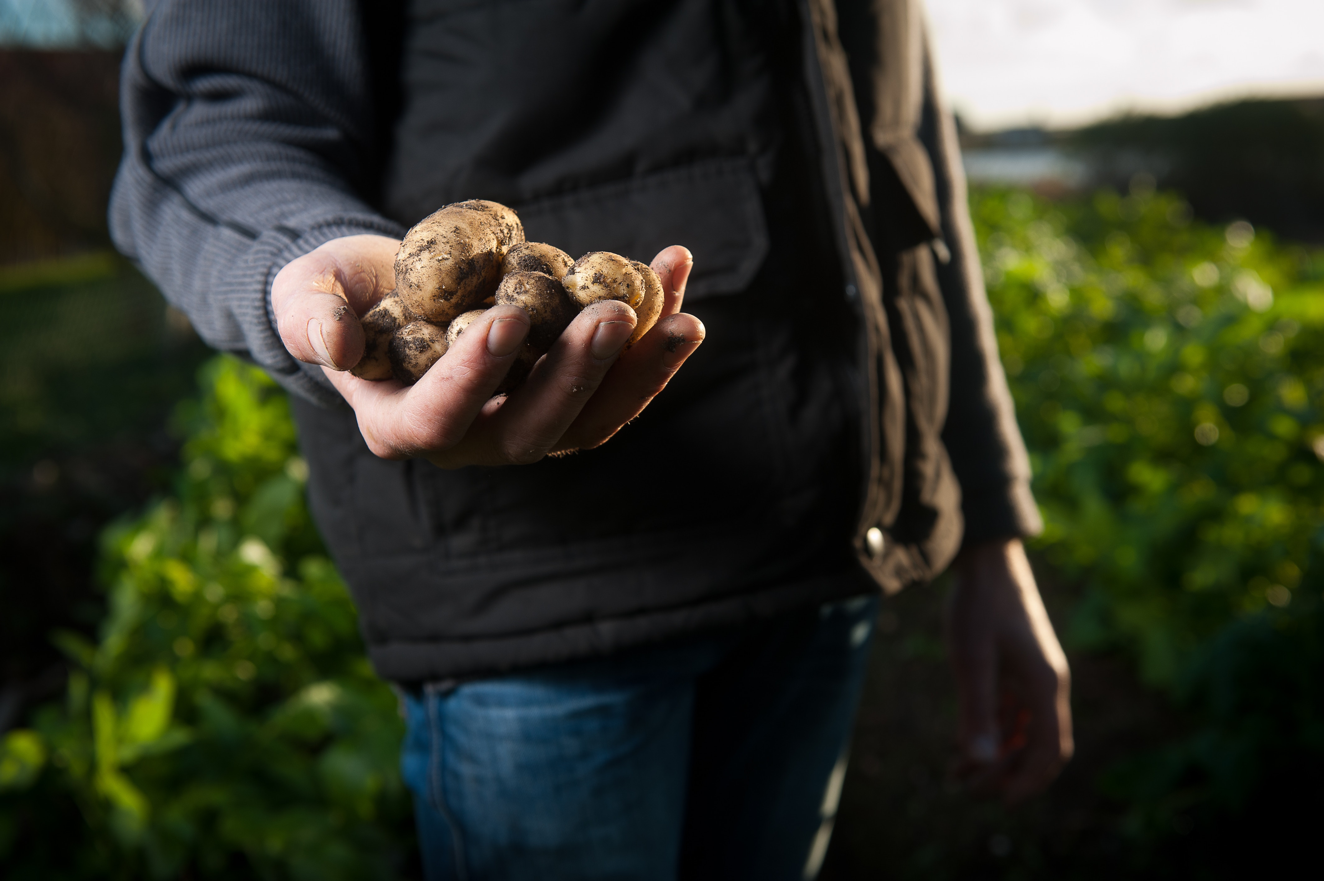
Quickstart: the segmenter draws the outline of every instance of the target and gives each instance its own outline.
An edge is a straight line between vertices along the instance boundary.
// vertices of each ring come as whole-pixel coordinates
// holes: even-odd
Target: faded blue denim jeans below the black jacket
[[[429,880],[814,877],[875,596],[406,697]]]

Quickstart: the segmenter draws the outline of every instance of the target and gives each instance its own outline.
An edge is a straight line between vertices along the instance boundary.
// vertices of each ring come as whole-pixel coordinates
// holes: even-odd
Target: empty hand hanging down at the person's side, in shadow
[[[1019,539],[965,550],[948,640],[960,693],[961,764],[976,790],[1014,804],[1071,758],[1071,672]]]

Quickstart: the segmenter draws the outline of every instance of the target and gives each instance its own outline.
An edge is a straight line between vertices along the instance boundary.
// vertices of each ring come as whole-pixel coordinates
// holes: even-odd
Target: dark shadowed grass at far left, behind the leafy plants
[[[0,303],[3,730],[5,692],[44,700],[64,681],[52,628],[95,632],[97,537],[169,489],[179,440],[164,425],[211,352],[111,252],[0,266]]]

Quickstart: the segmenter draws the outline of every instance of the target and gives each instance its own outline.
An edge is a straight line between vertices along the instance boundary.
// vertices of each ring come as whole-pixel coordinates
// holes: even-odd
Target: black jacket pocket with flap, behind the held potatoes
[[[667,245],[694,254],[686,299],[744,290],[768,256],[748,159],[719,159],[515,205],[530,241],[572,257],[610,250],[649,262]]]

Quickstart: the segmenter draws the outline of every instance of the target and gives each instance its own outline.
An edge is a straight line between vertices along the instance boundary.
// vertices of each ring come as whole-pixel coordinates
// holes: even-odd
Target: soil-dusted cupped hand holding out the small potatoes
[[[594,303],[523,386],[493,397],[528,334],[523,310],[494,306],[414,386],[359,379],[343,372],[363,356],[357,318],[395,289],[399,245],[384,236],[336,238],[290,261],[271,287],[286,348],[326,370],[357,415],[368,448],[384,458],[510,465],[597,446],[638,416],[703,342],[703,323],[681,313],[694,258],[673,245],[653,258],[666,294],[662,317],[624,354],[634,311]]]

